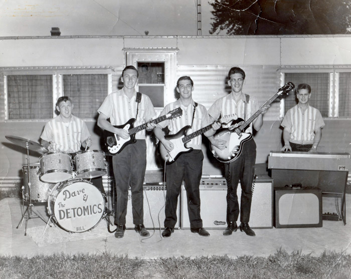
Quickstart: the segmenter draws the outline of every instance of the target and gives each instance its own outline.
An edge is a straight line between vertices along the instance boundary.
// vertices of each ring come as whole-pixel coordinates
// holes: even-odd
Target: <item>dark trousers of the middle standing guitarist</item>
[[[178,197],[184,179],[187,191],[188,213],[191,228],[203,226],[200,216],[200,180],[204,154],[201,150],[181,154],[178,159],[166,166],[166,204],[164,227],[174,228],[177,223]]]

